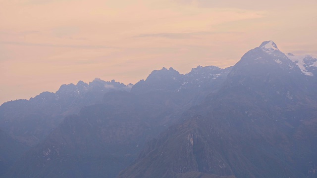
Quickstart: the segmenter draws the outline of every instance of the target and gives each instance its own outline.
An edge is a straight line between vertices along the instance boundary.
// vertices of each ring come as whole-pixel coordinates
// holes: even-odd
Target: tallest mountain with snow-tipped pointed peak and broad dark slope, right
[[[118,178],[317,178],[316,80],[264,42]]]

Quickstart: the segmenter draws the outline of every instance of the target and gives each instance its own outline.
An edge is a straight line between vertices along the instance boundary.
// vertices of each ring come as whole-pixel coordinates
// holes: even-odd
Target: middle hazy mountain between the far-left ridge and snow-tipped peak
[[[6,177],[114,178],[135,160],[146,141],[177,123],[185,110],[199,102],[197,98],[218,89],[229,70],[199,66],[181,75],[163,68],[131,92],[107,92],[99,104],[66,117]],[[63,91],[68,97],[77,93],[74,86],[68,88]]]

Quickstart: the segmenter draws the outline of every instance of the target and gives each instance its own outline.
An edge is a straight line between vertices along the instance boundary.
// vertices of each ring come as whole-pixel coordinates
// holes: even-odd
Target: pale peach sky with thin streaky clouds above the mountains
[[[234,65],[263,41],[317,56],[317,0],[0,0],[0,104],[162,67]]]

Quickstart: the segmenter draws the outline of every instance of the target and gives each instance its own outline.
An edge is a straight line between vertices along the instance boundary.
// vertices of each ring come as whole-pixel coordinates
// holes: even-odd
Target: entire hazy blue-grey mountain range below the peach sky
[[[317,178],[316,89],[317,59],[272,41],[226,69],[63,85],[0,106],[0,174]]]

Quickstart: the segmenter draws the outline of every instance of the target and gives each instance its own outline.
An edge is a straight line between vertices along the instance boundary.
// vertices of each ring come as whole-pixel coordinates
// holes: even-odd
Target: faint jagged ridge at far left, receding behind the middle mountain
[[[62,85],[56,93],[42,92],[30,98],[8,101],[0,106],[0,129],[28,146],[37,144],[55,128],[65,116],[77,114],[86,105],[101,102],[112,90],[130,91],[132,85],[95,79],[86,84]]]

